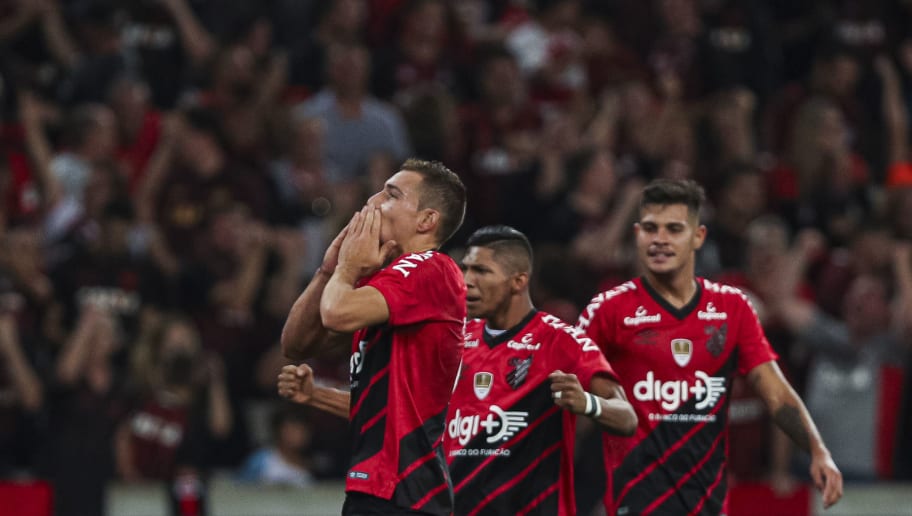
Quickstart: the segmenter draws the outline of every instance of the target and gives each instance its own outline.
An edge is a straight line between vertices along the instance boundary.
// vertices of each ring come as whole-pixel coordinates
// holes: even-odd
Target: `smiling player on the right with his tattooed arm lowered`
[[[729,394],[746,375],[777,425],[810,453],[829,507],[842,475],[776,365],[752,306],[735,288],[694,276],[706,228],[702,187],[656,180],[635,225],[644,275],[592,299],[577,326],[622,371],[639,420],[633,439],[604,439],[609,514],[720,514],[727,508]]]

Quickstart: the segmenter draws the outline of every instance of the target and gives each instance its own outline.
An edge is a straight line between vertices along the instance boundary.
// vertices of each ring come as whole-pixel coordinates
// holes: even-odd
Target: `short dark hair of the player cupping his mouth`
[[[418,209],[433,208],[440,212],[437,243],[442,245],[459,229],[465,218],[465,185],[455,172],[439,161],[409,158],[399,170],[421,174]]]

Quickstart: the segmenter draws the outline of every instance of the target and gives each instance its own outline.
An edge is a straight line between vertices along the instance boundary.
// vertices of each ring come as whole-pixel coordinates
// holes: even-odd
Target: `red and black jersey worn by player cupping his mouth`
[[[380,291],[390,316],[352,342],[346,491],[450,514],[442,440],[462,358],[462,272],[449,256],[427,251],[399,257],[363,284]]]

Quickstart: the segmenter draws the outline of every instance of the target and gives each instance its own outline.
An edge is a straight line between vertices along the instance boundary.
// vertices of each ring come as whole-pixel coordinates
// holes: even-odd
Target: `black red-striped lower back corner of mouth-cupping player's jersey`
[[[440,441],[445,421],[446,409],[399,440],[399,474],[405,474],[405,477],[393,493],[397,505],[413,507],[435,492],[417,508],[434,514],[452,511],[453,484]]]

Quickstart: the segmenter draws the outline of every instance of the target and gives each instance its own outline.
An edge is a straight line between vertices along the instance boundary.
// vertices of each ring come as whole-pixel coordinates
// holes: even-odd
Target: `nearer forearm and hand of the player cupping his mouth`
[[[380,245],[379,209],[365,206],[349,223],[349,234],[339,248],[339,265],[320,299],[323,326],[351,333],[389,320],[389,306],[379,290],[355,287],[362,278],[383,266],[396,242]]]

